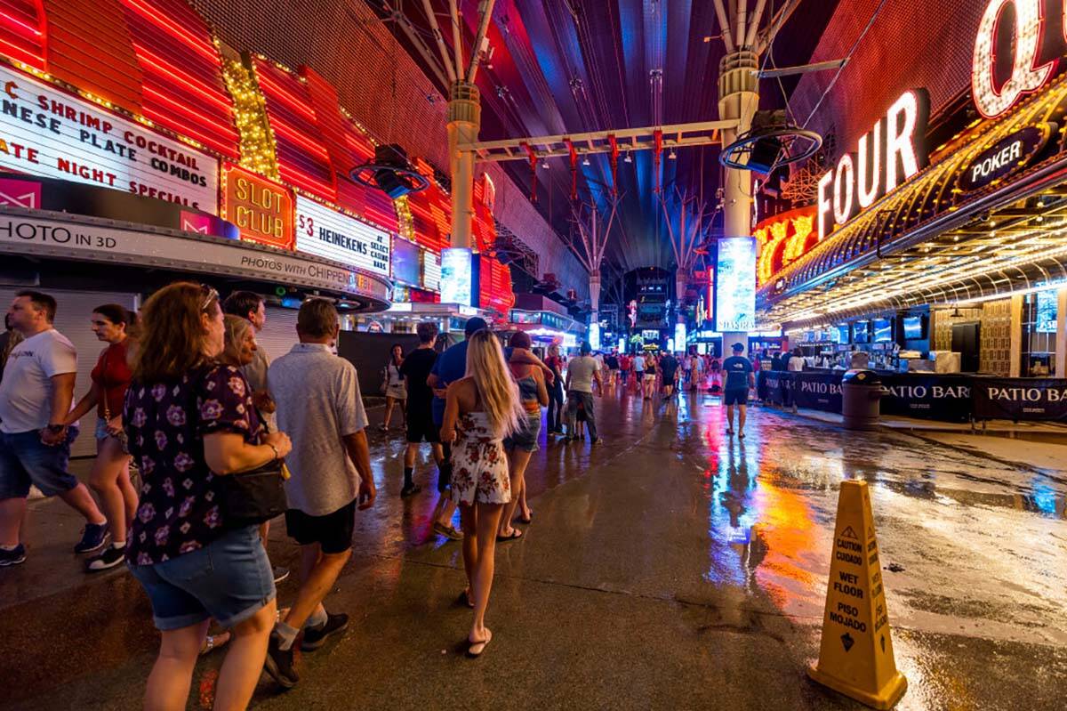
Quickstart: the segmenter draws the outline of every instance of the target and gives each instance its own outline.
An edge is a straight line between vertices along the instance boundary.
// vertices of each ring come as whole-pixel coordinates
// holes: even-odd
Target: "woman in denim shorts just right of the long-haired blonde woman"
[[[516,358],[523,351],[529,351],[530,337],[524,331],[519,331],[511,336],[512,363],[511,376],[519,383],[519,393],[522,400],[525,417],[521,427],[504,440],[504,448],[508,453],[508,469],[511,475],[511,502],[504,507],[504,516],[500,518],[500,539],[514,540],[521,538],[523,533],[511,525],[511,518],[519,510],[519,521],[529,523],[534,512],[526,503],[526,465],[529,464],[530,456],[537,452],[538,436],[541,433],[541,408],[548,405],[548,389],[544,382],[544,375],[541,368],[536,365],[517,362]]]

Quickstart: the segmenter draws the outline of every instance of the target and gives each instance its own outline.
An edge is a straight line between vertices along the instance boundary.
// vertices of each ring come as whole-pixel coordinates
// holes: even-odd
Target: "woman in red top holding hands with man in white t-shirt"
[[[96,408],[96,460],[89,484],[108,517],[111,546],[86,560],[89,572],[107,570],[126,559],[126,531],[137,512],[138,497],[130,484],[130,457],[123,430],[123,404],[130,384],[129,332],[137,316],[116,303],[99,306],[91,316],[93,333],[108,344],[93,368],[93,383],[66,417],[73,424]]]

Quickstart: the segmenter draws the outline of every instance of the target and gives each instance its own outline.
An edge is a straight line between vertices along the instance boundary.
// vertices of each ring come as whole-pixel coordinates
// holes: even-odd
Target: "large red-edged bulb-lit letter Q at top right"
[[[1015,54],[1012,59],[1012,76],[1000,88],[993,72],[997,67],[998,35],[1001,17],[1008,5],[1015,12],[1015,27],[1012,34]],[[1040,66],[1037,62],[1045,18],[1041,16],[1041,0],[991,0],[978,22],[978,34],[974,40],[974,58],[971,63],[971,90],[974,104],[986,118],[996,118],[1019,100],[1023,94],[1034,92],[1052,76],[1055,61]],[[1009,50],[1010,51],[1010,50]]]

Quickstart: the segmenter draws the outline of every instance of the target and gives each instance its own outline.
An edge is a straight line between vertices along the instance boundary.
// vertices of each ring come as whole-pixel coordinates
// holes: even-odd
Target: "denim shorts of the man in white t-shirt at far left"
[[[70,443],[78,437],[77,427],[67,428],[66,440],[53,447],[41,441],[41,432],[0,432],[0,499],[26,499],[30,485],[46,496],[70,491],[78,486],[67,472]]]

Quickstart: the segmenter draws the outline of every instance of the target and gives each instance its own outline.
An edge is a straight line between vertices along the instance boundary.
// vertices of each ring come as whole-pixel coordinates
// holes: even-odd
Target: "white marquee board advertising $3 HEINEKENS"
[[[297,195],[297,250],[389,275],[389,233]]]

